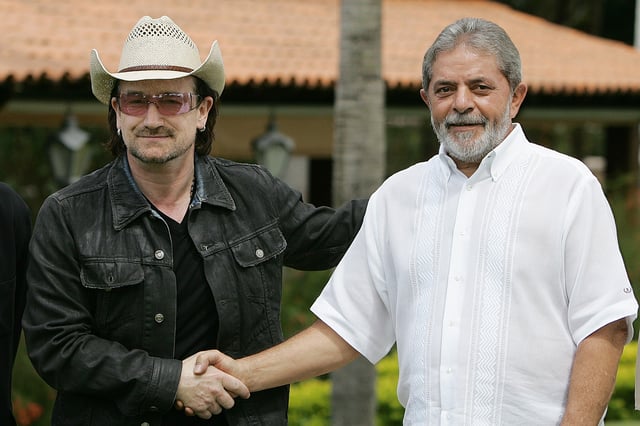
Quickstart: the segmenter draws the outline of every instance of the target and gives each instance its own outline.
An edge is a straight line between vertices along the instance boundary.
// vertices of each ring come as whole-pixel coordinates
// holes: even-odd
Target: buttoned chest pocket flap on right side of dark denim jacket
[[[287,241],[277,225],[262,228],[253,234],[229,243],[236,262],[249,268],[278,256],[287,248]]]

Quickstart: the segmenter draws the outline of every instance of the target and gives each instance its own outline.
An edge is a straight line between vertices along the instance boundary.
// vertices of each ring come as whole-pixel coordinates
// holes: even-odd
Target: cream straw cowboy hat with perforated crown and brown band
[[[191,38],[169,17],[142,17],[124,42],[118,72],[110,73],[102,64],[98,51],[91,51],[91,90],[104,104],[111,101],[116,80],[163,80],[192,75],[211,89],[222,93],[224,65],[214,41],[209,56],[200,62],[200,52]]]

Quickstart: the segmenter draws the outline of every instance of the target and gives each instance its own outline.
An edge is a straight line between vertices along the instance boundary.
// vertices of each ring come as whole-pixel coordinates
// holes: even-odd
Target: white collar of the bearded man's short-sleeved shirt
[[[523,149],[525,141],[522,127],[519,123],[513,123],[513,128],[507,137],[482,159],[478,170],[476,170],[471,178],[475,180],[490,176],[491,179],[497,181],[504,174],[517,154]],[[459,173],[455,162],[447,155],[442,145],[440,145],[438,156],[444,166],[442,169],[447,179],[451,177],[452,173]]]

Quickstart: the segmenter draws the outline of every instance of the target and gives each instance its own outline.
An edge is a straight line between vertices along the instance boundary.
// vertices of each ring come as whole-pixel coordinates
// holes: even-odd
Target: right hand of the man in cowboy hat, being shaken
[[[215,367],[194,374],[196,359],[194,355],[182,361],[176,404],[188,407],[185,414],[208,419],[232,408],[235,397],[249,398],[249,389],[240,380]]]

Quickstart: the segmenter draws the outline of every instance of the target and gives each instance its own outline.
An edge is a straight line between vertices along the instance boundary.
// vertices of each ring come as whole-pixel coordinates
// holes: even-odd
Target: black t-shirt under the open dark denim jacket
[[[175,358],[185,359],[194,353],[216,348],[218,312],[211,289],[204,276],[202,257],[191,241],[187,219],[177,223],[160,213],[169,225],[173,243],[173,272],[178,288]],[[163,426],[227,425],[224,416],[210,420],[187,417],[172,409],[163,416]]]

